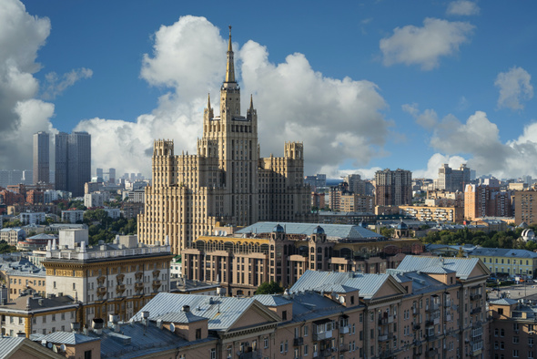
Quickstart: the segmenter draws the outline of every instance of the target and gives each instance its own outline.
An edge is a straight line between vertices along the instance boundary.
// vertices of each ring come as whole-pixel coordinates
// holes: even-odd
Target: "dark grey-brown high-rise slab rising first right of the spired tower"
[[[412,172],[383,169],[375,173],[375,204],[399,206],[412,203]]]

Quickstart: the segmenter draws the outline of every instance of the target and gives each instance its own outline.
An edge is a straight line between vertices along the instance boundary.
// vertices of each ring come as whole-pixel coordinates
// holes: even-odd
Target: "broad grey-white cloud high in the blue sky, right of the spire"
[[[474,26],[436,18],[423,20],[423,27],[396,27],[393,35],[380,40],[385,66],[420,65],[422,70],[439,66],[441,56],[453,56],[470,41]]]

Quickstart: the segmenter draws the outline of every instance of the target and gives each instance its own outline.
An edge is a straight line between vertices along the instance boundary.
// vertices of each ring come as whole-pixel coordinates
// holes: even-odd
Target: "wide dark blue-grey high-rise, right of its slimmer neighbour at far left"
[[[84,196],[84,184],[91,180],[91,135],[87,132],[56,135],[55,180],[56,190]]]

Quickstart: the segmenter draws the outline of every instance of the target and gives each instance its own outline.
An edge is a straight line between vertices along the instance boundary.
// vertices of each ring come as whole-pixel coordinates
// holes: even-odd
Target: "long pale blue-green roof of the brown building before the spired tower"
[[[309,236],[318,226],[320,226],[330,239],[384,239],[379,233],[351,224],[257,222],[237,231],[237,233],[270,233],[278,224],[281,224],[286,233],[289,234],[303,234]]]

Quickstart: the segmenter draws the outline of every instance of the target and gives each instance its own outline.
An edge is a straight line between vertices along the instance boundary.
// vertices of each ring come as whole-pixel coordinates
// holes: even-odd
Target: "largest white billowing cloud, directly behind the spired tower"
[[[226,51],[227,38],[203,17],[183,16],[171,26],[161,26],[153,54],[144,56],[141,77],[169,92],[151,114],[134,123],[82,121],[76,130],[91,133],[94,144],[107,144],[106,149],[93,147],[95,165],[128,170],[144,166],[147,171],[155,138],[175,139],[176,154],[181,149],[195,153],[208,92],[218,113]],[[236,76],[242,80],[242,113],[249,94],[258,109],[261,156],[281,156],[286,140],[303,141],[306,172],[314,172],[326,163],[353,159],[360,166],[384,155],[381,148],[390,121],[381,112],[386,103],[375,84],[324,77],[298,53],[283,63],[271,63],[267,48],[253,41],[242,48],[234,44],[234,51]]]

